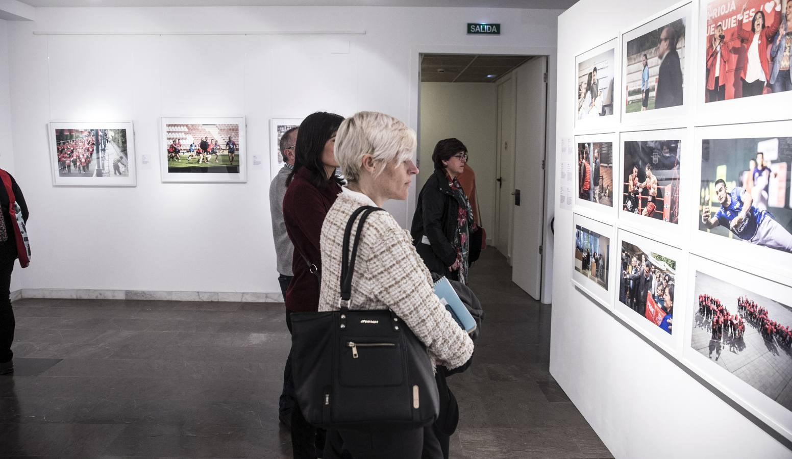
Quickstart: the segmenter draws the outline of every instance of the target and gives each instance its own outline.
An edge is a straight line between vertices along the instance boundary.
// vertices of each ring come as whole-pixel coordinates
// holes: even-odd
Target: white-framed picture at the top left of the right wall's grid
[[[578,108],[578,104],[581,100],[576,93],[576,97],[574,97],[575,106],[573,109],[575,112],[574,119],[577,132],[584,133],[588,131],[596,131],[597,129],[615,126],[615,124],[619,123],[619,116],[621,116],[620,107],[622,93],[622,71],[621,59],[619,59],[619,51],[619,37],[615,37],[611,40],[607,40],[607,42],[604,44],[600,44],[599,46],[588,51],[584,51],[575,57],[575,90],[577,91],[579,89],[581,82],[586,85],[588,73],[591,72],[593,68],[596,68],[598,74],[597,79],[599,82],[601,82],[600,90],[598,92],[601,92],[603,97],[602,101],[600,102],[604,105],[605,112],[611,112],[609,115],[604,116],[583,115],[583,112],[581,112],[580,108]],[[609,95],[612,99],[610,110],[608,110],[607,107],[607,99]]]

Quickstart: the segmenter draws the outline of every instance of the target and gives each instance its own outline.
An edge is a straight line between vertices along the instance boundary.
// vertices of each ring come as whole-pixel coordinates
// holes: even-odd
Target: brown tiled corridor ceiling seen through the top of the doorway
[[[421,55],[421,82],[491,83],[532,59],[525,55]]]

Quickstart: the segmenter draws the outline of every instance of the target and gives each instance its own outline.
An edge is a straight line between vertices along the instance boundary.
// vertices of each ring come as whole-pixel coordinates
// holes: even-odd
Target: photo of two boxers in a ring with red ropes
[[[625,141],[622,210],[679,223],[680,140]]]

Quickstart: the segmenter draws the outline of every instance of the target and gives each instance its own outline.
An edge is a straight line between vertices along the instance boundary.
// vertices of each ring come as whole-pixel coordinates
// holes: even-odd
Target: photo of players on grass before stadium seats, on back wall
[[[166,124],[169,173],[238,173],[238,124]]]

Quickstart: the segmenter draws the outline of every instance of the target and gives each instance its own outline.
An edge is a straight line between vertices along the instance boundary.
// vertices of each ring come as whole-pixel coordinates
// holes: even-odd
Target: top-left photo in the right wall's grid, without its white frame
[[[613,115],[616,49],[577,63],[577,119]]]

